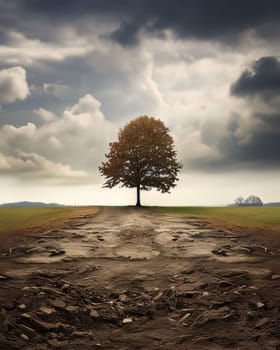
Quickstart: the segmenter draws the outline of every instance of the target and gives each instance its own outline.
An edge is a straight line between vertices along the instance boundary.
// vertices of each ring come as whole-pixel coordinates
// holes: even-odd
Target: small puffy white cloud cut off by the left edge
[[[0,103],[24,100],[29,95],[26,71],[22,67],[0,70]]]

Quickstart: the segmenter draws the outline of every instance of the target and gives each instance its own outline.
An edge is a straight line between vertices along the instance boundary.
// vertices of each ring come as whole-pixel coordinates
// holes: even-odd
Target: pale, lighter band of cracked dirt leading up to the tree
[[[87,223],[45,232],[34,238],[34,246],[15,248],[13,254],[23,249],[27,255],[18,261],[34,263],[70,261],[71,258],[135,260],[157,256],[211,256],[220,260],[226,257],[227,262],[260,260],[248,254],[251,248],[240,246],[237,238],[238,235],[213,229],[195,218],[157,218],[143,210],[104,208]],[[263,247],[254,249],[265,252]]]

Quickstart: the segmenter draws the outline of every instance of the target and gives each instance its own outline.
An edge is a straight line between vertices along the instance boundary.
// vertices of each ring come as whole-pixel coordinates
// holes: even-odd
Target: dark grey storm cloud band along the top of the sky
[[[269,38],[278,34],[280,20],[278,0],[19,0],[16,4],[30,16],[69,23],[91,16],[114,18],[119,29],[112,39],[124,45],[135,44],[141,29],[156,34],[170,29],[180,37],[227,43],[249,29]]]

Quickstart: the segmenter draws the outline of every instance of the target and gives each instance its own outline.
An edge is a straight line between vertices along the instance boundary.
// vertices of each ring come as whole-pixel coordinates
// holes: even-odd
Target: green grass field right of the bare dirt
[[[267,227],[280,232],[280,207],[159,207],[154,210],[162,214],[198,216],[221,224]]]

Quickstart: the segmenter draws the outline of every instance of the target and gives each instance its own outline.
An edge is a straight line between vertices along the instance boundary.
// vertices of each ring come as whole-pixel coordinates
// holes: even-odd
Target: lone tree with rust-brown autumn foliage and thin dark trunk
[[[107,181],[103,187],[136,188],[140,207],[140,190],[169,192],[175,187],[182,164],[176,159],[169,129],[153,117],[141,116],[120,130],[118,141],[109,144],[107,161],[99,167]]]

